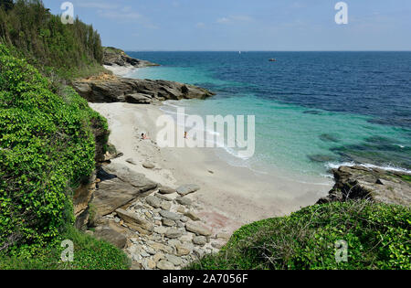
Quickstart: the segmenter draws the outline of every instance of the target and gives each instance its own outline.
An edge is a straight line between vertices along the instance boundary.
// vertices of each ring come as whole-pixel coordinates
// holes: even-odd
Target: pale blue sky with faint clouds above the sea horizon
[[[44,0],[61,14],[64,0]],[[71,0],[104,46],[126,50],[411,50],[410,0]]]

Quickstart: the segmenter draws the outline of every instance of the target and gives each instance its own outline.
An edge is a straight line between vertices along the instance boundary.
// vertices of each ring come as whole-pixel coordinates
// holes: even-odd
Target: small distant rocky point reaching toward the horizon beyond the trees
[[[103,48],[103,52],[103,64],[107,66],[118,65],[123,67],[131,66],[134,68],[159,66],[158,64],[152,63],[150,61],[133,59],[119,48],[105,47]]]

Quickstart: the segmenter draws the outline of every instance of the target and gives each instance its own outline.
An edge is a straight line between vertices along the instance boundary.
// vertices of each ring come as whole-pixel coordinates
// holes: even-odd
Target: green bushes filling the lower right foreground
[[[411,269],[410,208],[367,201],[302,208],[238,229],[191,269]],[[345,240],[348,261],[335,261]]]

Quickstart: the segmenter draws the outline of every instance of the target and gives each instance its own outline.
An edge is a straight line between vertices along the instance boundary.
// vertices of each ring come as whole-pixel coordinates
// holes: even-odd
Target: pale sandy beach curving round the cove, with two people
[[[314,184],[310,184],[280,172],[263,175],[228,165],[215,153],[214,149],[220,148],[159,148],[155,122],[163,115],[160,106],[90,103],[108,119],[110,142],[124,154],[113,162],[128,165],[163,186],[200,186],[188,197],[195,200],[198,215],[213,229],[231,233],[252,221],[289,214],[314,204],[332,187],[332,182],[327,184],[323,178],[311,179],[309,182]],[[151,138],[142,140],[142,133]],[[126,161],[130,159],[134,165]],[[146,169],[143,163],[155,167]]]

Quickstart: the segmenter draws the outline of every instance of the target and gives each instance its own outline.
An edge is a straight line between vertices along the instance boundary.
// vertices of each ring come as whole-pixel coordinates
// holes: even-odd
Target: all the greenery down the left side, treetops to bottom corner
[[[41,1],[0,0],[0,269],[130,266],[73,227],[73,190],[90,178],[109,132],[62,83],[105,71],[102,57],[99,34],[79,19],[63,25]],[[73,241],[73,262],[60,260],[62,240]]]

